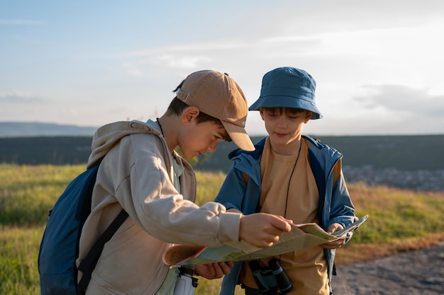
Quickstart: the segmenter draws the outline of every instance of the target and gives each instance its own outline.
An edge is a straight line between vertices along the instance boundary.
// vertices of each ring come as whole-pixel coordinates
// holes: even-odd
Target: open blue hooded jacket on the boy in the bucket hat
[[[355,207],[345,185],[342,173],[342,158],[335,149],[321,144],[316,139],[303,136],[309,146],[309,163],[316,180],[319,192],[318,221],[327,230],[333,223],[348,226],[357,220]],[[236,149],[228,158],[234,161],[228,171],[226,180],[216,197],[216,202],[225,205],[227,209],[235,208],[243,214],[256,212],[260,197],[260,159],[264,149],[265,139],[255,144],[255,151]],[[245,178],[245,176],[247,176]],[[352,233],[345,241],[349,241]],[[334,272],[335,250],[324,249],[328,262],[328,278]],[[238,283],[242,262],[235,262],[230,274],[223,278],[221,295],[233,295]],[[331,289],[331,283],[330,283]]]

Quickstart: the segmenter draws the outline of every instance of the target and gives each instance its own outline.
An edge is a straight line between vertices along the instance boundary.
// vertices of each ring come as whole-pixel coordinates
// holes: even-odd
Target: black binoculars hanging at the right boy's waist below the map
[[[285,273],[277,258],[268,262],[268,266],[260,266],[259,260],[252,260],[248,263],[255,279],[257,287],[262,293],[277,292],[287,294],[292,291],[293,284]]]

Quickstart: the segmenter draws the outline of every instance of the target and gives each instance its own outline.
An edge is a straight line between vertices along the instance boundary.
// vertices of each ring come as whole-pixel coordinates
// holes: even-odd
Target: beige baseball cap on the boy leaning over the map
[[[245,131],[248,104],[242,89],[228,74],[218,71],[196,71],[183,81],[176,97],[187,105],[199,108],[221,120],[231,140],[245,151],[254,151],[250,137]]]

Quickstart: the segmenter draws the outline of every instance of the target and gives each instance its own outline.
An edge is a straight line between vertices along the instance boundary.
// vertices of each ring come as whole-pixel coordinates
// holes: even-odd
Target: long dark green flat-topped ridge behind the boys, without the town
[[[49,134],[49,131],[46,131]],[[79,132],[79,131],[77,131]],[[84,129],[84,132],[86,130]],[[91,153],[89,136],[0,137],[0,163],[70,164],[86,163]],[[252,137],[256,143],[262,137]],[[444,135],[318,137],[343,155],[343,165],[396,168],[398,170],[444,170]],[[221,142],[214,153],[194,159],[199,170],[228,171],[228,153],[233,142]]]

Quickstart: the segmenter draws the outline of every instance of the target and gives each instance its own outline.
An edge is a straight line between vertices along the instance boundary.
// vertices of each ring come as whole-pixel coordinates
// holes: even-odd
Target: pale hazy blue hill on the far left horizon
[[[40,122],[0,122],[0,137],[93,136],[97,127]]]

